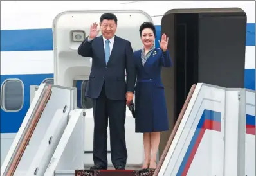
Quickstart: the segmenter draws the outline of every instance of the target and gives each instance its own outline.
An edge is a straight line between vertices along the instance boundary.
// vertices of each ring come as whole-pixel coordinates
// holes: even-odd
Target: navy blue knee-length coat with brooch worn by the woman
[[[169,51],[155,48],[142,65],[142,50],[134,52],[137,81],[135,87],[136,132],[169,130],[165,91],[161,81],[161,68],[171,67]]]

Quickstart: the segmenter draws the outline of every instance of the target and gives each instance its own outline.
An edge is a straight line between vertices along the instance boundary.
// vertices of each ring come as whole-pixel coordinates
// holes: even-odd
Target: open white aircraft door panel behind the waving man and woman
[[[84,106],[91,102],[84,98],[86,83],[91,71],[91,58],[81,57],[77,49],[89,35],[91,24],[99,23],[100,16],[107,12],[114,13],[118,18],[116,35],[129,40],[133,50],[141,49],[139,27],[145,21],[152,22],[152,19],[140,10],[69,11],[60,13],[53,21],[54,83],[65,87],[77,87],[77,106],[86,109],[85,166],[93,165],[93,109],[92,106]],[[129,155],[127,166],[141,166],[144,157],[142,134],[135,134],[134,118],[128,109],[125,131]],[[109,139],[107,146],[110,150]],[[108,160],[111,161],[110,154],[108,154]]]

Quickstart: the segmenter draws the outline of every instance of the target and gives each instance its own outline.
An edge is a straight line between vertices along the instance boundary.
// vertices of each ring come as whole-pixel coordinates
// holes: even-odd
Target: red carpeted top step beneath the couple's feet
[[[75,176],[152,176],[154,170],[75,170]]]

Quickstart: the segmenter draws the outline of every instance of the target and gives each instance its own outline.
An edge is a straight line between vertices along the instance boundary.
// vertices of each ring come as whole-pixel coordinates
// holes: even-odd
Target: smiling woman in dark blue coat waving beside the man
[[[135,87],[136,132],[143,133],[145,161],[142,168],[156,168],[160,132],[169,130],[161,68],[171,67],[169,38],[163,34],[160,48],[154,47],[156,29],[151,22],[140,26],[143,48],[134,52],[137,82]],[[151,155],[152,153],[152,155]]]

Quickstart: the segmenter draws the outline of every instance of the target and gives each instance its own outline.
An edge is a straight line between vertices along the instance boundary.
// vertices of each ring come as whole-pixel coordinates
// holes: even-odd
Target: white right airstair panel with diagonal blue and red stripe
[[[159,175],[181,174],[186,167],[189,168],[188,175],[222,175],[224,132],[212,130],[204,132],[203,127],[198,127],[198,124],[204,122],[205,110],[210,110],[221,113],[221,128],[223,128],[224,98],[224,90],[197,84]],[[199,146],[196,146],[196,143]],[[193,156],[192,150],[197,152],[196,155]],[[186,154],[187,151],[190,153]],[[186,166],[190,160],[193,162],[190,166]]]

